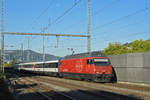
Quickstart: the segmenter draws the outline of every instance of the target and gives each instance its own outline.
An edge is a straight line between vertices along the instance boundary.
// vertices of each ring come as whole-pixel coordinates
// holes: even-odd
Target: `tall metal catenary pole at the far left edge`
[[[4,73],[4,0],[1,1],[1,70]]]

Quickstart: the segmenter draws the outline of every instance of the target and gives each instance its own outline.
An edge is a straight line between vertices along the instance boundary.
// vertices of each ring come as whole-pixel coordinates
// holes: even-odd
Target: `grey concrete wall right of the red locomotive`
[[[150,52],[110,56],[118,81],[150,83]]]

